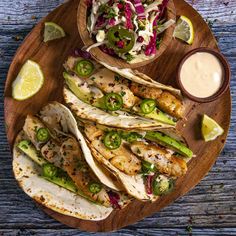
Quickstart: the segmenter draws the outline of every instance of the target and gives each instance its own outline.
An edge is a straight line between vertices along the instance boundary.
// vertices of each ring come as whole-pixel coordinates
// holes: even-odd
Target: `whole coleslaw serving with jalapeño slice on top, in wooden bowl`
[[[92,0],[88,6],[87,29],[105,53],[137,63],[153,58],[161,33],[175,23],[165,21],[169,0]]]

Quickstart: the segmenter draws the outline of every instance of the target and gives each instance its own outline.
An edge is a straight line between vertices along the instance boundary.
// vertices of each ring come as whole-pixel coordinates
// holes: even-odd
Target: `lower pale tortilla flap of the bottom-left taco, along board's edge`
[[[13,172],[23,191],[43,206],[64,215],[99,221],[107,218],[113,208],[96,205],[85,198],[39,177],[40,167],[22,154],[16,144],[26,137],[21,132],[13,148]]]

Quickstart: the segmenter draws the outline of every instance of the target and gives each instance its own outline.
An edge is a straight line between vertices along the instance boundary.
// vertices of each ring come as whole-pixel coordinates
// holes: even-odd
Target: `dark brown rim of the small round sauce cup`
[[[197,52],[207,52],[207,53],[210,53],[212,55],[214,55],[215,57],[218,58],[218,60],[221,62],[222,64],[222,67],[224,69],[224,81],[223,83],[221,84],[221,87],[220,89],[215,93],[213,94],[212,96],[209,96],[209,97],[206,97],[206,98],[199,98],[199,97],[196,97],[192,94],[190,94],[183,86],[182,82],[181,82],[181,79],[180,79],[180,72],[181,72],[181,69],[182,69],[182,66],[184,64],[184,62],[190,57],[192,56],[193,54],[197,53]],[[208,48],[208,47],[199,47],[199,48],[195,48],[191,51],[189,51],[187,54],[184,55],[184,57],[181,59],[181,61],[179,62],[178,64],[178,69],[177,69],[177,85],[178,87],[180,88],[180,90],[182,91],[182,93],[188,97],[190,100],[193,100],[195,102],[199,102],[199,103],[207,103],[207,102],[212,102],[216,99],[218,99],[219,97],[221,97],[225,92],[226,90],[228,89],[229,87],[229,84],[230,84],[230,78],[231,78],[231,71],[230,71],[230,65],[227,61],[227,59],[225,58],[225,56],[215,50],[215,49],[211,49],[211,48]]]

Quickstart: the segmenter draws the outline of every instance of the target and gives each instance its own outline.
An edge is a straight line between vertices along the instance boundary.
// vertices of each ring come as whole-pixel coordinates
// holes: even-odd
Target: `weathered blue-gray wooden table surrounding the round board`
[[[236,235],[236,0],[188,2],[211,25],[231,64],[233,110],[227,143],[212,170],[192,191],[113,235]],[[5,135],[3,91],[13,55],[40,18],[61,3],[0,0],[0,235],[89,235],[48,217],[17,186]]]

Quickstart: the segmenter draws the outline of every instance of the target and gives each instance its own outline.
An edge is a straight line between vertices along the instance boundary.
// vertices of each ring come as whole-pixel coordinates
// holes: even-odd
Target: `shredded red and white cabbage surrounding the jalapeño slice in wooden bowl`
[[[145,3],[142,0],[88,1],[91,1],[92,5],[87,28],[91,36],[94,36],[96,43],[87,48],[87,51],[94,47],[100,47],[105,53],[119,56],[125,60],[128,60],[127,55],[131,55],[132,59],[130,60],[133,61],[136,61],[139,57],[152,58],[157,51],[156,41],[158,35],[174,24],[174,20],[161,21],[169,0],[151,0]],[[109,9],[112,11],[109,11]],[[99,30],[103,30],[106,34],[110,27],[118,24],[135,34],[134,47],[126,54],[117,55],[114,49],[109,47],[107,40],[104,41],[100,37],[97,40],[96,38]]]

